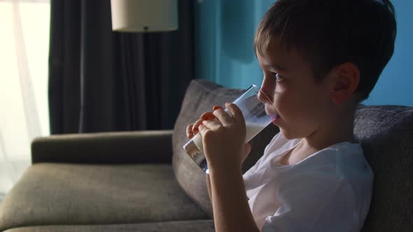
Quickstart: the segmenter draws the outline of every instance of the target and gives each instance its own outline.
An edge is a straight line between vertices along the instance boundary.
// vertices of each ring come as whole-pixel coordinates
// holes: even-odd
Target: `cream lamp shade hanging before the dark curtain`
[[[178,29],[178,0],[111,0],[111,13],[113,31]]]

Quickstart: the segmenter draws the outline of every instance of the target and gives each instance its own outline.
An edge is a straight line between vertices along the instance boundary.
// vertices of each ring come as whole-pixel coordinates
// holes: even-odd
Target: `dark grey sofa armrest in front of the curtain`
[[[31,163],[171,163],[172,130],[76,133],[38,137]]]

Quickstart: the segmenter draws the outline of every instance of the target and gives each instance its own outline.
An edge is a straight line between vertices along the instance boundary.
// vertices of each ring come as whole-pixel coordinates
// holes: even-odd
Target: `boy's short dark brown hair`
[[[255,53],[272,38],[295,48],[321,80],[346,61],[360,70],[356,92],[367,99],[394,50],[395,10],[388,0],[279,0],[255,31]]]

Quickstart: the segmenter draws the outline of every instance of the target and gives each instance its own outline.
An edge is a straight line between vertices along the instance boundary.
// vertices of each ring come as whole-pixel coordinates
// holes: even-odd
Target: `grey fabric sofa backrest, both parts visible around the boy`
[[[173,133],[175,177],[188,196],[212,217],[205,173],[186,154],[186,125],[212,106],[234,100],[242,90],[228,89],[207,80],[193,80],[183,99]],[[269,125],[253,140],[243,172],[261,157],[279,129]],[[374,173],[370,212],[363,231],[413,231],[413,107],[360,106],[354,133]]]

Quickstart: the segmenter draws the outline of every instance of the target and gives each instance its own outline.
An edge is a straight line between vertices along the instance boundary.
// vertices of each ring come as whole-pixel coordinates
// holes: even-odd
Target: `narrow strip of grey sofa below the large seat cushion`
[[[63,225],[63,226],[29,226],[9,229],[4,232],[209,232],[215,231],[214,221],[193,220],[177,222],[153,222],[141,224],[112,225]]]

